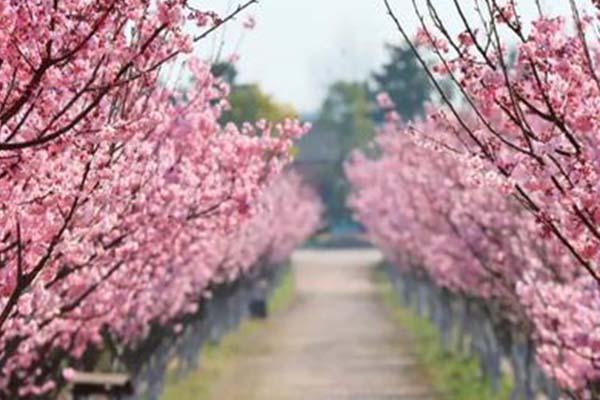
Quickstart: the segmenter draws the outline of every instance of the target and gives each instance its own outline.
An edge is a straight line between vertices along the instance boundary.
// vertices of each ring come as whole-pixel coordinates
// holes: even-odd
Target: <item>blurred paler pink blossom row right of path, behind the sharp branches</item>
[[[540,235],[510,184],[459,151],[451,135],[433,119],[387,124],[377,158],[356,153],[347,163],[350,207],[398,268],[484,301],[498,325],[534,340],[550,376],[581,389],[600,377],[593,350],[581,347],[600,338],[597,286],[573,270],[560,244]],[[587,289],[588,300],[566,307],[576,287]]]

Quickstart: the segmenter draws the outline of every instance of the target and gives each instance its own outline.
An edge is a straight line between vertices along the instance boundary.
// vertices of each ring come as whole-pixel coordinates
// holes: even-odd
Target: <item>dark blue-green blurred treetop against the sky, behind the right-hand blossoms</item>
[[[423,115],[431,94],[429,78],[407,46],[386,45],[389,61],[373,73],[374,94],[387,92],[405,120]],[[382,118],[381,112],[376,113]]]

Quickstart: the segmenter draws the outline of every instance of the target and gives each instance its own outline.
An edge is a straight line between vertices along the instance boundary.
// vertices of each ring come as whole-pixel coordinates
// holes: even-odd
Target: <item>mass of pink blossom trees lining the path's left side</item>
[[[65,361],[134,346],[316,229],[282,175],[307,126],[221,126],[228,88],[195,59],[185,92],[160,84],[198,13],[0,4],[0,398],[51,397]]]

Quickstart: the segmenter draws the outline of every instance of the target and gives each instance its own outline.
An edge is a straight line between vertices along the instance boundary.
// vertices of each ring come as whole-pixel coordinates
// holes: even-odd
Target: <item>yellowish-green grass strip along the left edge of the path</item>
[[[287,309],[295,294],[296,284],[291,269],[287,270],[281,283],[269,299],[269,314],[276,315]],[[200,355],[200,369],[183,379],[177,379],[176,371],[167,376],[167,384],[162,400],[209,400],[212,399],[214,384],[228,370],[249,338],[260,333],[263,321],[248,320],[242,322],[237,331],[226,335],[218,344],[203,346]]]

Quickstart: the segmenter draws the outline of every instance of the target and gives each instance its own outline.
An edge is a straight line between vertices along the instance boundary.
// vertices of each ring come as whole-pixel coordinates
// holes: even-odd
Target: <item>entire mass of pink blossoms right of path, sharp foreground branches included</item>
[[[381,157],[348,166],[351,206],[390,259],[499,305],[546,373],[590,398],[600,380],[598,21],[572,2],[571,18],[525,24],[517,3],[493,2],[473,21],[455,3],[456,36],[435,8],[431,20],[417,10],[424,67],[454,83],[462,105],[410,126],[391,120]]]

